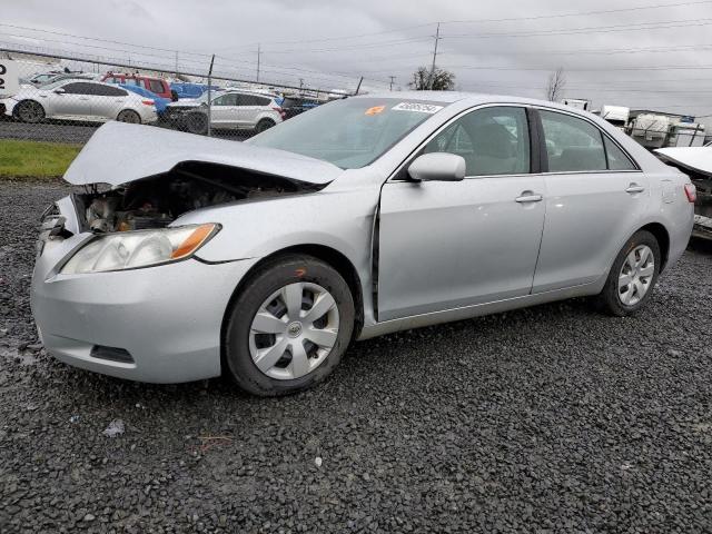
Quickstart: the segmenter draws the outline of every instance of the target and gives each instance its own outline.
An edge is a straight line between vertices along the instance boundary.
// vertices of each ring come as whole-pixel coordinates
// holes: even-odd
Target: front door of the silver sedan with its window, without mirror
[[[544,227],[524,108],[472,111],[422,152],[463,156],[463,181],[390,181],[382,191],[378,320],[528,295]]]

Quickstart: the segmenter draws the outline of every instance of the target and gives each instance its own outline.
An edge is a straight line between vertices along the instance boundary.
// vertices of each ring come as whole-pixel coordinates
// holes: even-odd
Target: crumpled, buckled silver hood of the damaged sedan
[[[112,121],[91,136],[65,172],[65,180],[120,186],[167,172],[181,161],[229,165],[320,185],[343,172],[329,162],[284,150]]]

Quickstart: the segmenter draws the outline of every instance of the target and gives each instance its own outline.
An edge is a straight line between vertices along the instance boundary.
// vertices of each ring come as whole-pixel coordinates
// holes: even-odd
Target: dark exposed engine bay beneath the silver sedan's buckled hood
[[[170,171],[127,186],[73,197],[85,229],[112,233],[164,228],[195,209],[248,199],[297,195],[324,185],[264,175],[219,164],[186,161]]]

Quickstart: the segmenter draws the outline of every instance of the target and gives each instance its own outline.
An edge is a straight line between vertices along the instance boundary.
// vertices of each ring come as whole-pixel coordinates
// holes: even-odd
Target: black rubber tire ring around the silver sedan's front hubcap
[[[326,359],[306,376],[278,380],[263,374],[249,352],[253,318],[265,299],[281,287],[294,283],[318,284],[332,294],[339,313],[339,332]],[[224,337],[227,370],[237,384],[249,393],[263,396],[286,395],[322,382],[339,364],[354,329],[354,299],[344,278],[316,258],[284,258],[265,266],[251,277],[233,303]]]

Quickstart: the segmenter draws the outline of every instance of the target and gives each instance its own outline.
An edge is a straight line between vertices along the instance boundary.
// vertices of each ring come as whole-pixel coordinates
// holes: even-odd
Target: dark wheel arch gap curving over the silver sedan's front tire
[[[348,288],[354,298],[354,310],[356,313],[354,320],[354,332],[352,340],[357,339],[364,326],[364,295],[360,285],[360,277],[354,264],[343,253],[333,247],[316,244],[294,245],[271,253],[250,267],[240,281],[235,287],[230,299],[222,314],[222,324],[220,325],[220,360],[225,368],[225,336],[227,332],[228,316],[235,300],[239,297],[243,289],[254,278],[255,274],[265,266],[275,263],[285,256],[307,255],[320,259],[333,267],[346,280]]]

